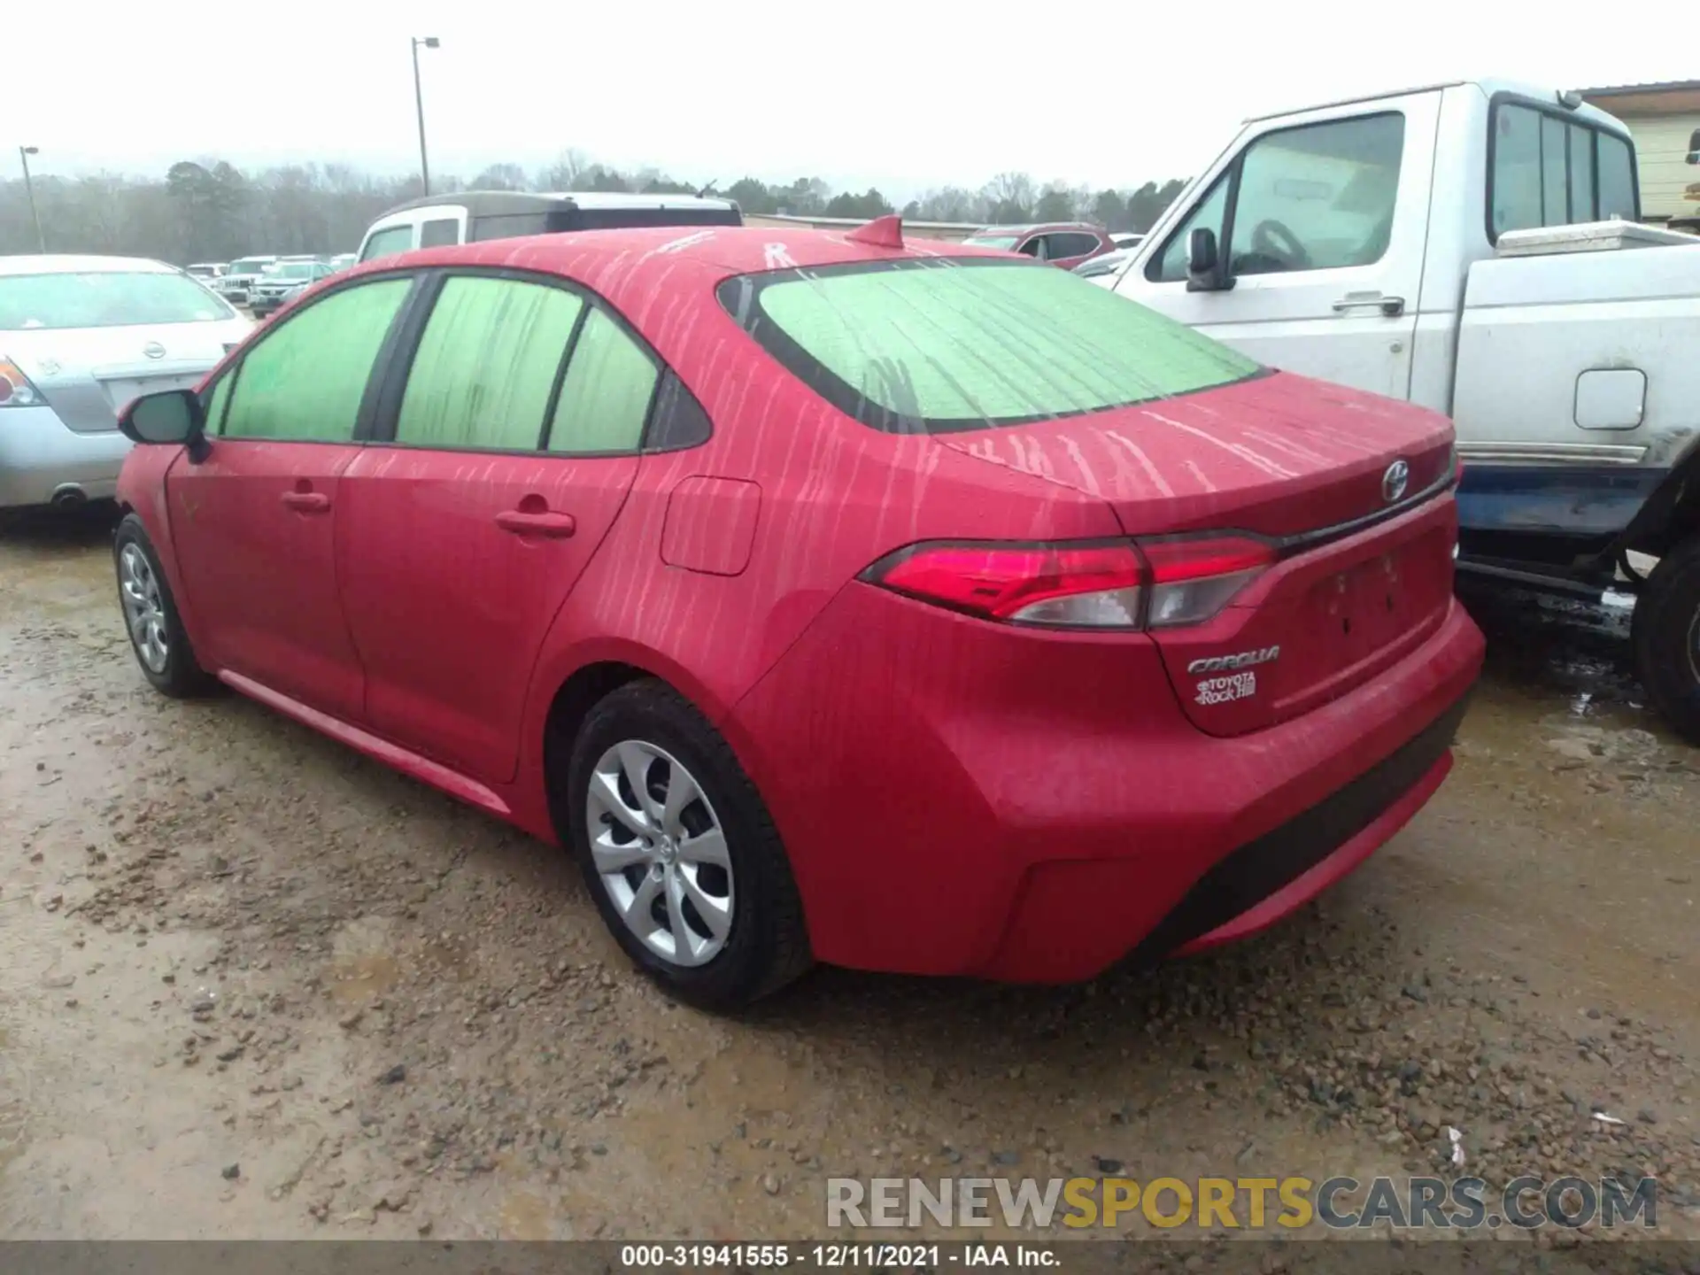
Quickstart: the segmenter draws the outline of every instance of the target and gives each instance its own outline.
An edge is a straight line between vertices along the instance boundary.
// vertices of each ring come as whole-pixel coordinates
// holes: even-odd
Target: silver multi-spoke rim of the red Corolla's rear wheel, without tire
[[[585,816],[597,877],[626,926],[675,966],[719,955],[733,928],[733,864],[690,770],[651,743],[617,743],[590,775]]]

